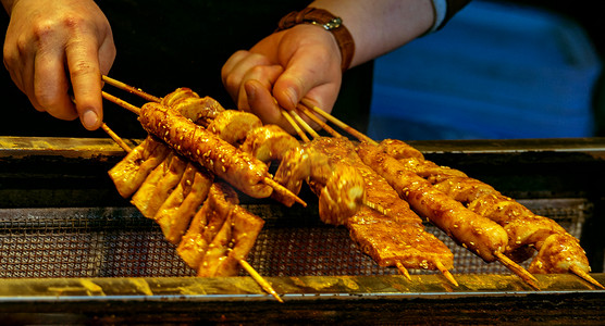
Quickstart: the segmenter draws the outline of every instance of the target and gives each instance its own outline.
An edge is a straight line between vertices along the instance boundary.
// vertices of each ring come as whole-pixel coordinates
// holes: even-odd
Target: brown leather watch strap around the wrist
[[[339,17],[323,9],[306,8],[285,15],[280,21],[277,30],[288,29],[299,24],[313,24],[331,32],[341,49],[341,68],[344,72],[349,67],[355,54],[355,41]]]

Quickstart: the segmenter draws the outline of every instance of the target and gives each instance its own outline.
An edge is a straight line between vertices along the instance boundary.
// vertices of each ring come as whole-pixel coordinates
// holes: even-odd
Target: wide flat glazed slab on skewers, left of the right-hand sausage
[[[365,180],[368,201],[384,209],[385,214],[361,208],[346,220],[351,238],[380,266],[400,264],[406,268],[453,268],[454,255],[449,249],[424,230],[421,218],[399,199],[383,177],[361,162],[349,140],[323,137],[308,146],[328,155],[332,162],[344,162],[356,168]]]

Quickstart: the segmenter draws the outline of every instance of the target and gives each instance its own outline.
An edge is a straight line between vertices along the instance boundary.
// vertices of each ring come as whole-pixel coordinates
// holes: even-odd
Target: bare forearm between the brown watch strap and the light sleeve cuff
[[[343,18],[356,45],[351,66],[421,36],[435,20],[431,0],[317,0],[309,7],[325,9]]]

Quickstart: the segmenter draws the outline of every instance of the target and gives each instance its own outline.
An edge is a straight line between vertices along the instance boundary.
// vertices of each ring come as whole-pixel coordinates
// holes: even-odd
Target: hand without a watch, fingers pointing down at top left
[[[104,14],[92,0],[3,3],[11,15],[4,66],[13,82],[36,110],[61,120],[79,116],[87,129],[97,129],[102,124],[101,74],[115,59]]]

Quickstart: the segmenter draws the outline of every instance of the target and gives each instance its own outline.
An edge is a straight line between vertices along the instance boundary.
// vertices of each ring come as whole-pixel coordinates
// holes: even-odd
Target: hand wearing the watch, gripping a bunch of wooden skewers
[[[238,109],[292,133],[281,109],[296,110],[307,98],[331,112],[341,89],[341,60],[331,33],[319,26],[297,25],[266,37],[249,51],[235,52],[221,76]]]

